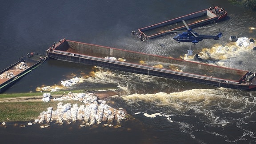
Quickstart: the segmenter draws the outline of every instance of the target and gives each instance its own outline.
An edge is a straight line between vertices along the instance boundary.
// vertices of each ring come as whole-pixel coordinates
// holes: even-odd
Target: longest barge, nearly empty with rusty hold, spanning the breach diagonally
[[[48,56],[56,60],[191,81],[216,87],[256,90],[255,73],[244,70],[224,68],[70,40],[62,40],[60,43],[56,44],[56,47],[48,51]],[[109,59],[109,57],[115,57],[116,60]],[[126,61],[124,61],[124,59]]]

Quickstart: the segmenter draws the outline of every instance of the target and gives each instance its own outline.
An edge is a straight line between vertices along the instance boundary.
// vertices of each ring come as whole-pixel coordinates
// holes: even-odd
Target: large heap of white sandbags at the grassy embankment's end
[[[43,123],[45,120],[50,123],[56,120],[59,124],[64,121],[70,123],[72,121],[82,121],[83,126],[90,126],[93,124],[109,124],[112,125],[125,119],[126,112],[122,108],[118,110],[106,104],[106,101],[99,100],[97,96],[92,93],[73,93],[69,92],[67,96],[54,98],[53,100],[60,100],[57,109],[48,108],[48,111],[41,112],[38,119],[34,123]],[[64,100],[79,100],[83,102],[80,106],[78,104],[63,104]]]

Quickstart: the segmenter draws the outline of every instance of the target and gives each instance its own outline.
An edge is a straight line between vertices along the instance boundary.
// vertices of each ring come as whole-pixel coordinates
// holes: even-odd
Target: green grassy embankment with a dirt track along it
[[[61,96],[64,93],[65,95],[68,94],[68,92],[64,91],[49,93],[53,97]],[[51,100],[49,102],[43,102],[42,95],[43,93],[41,92],[0,94],[0,122],[34,121],[38,118],[40,112],[47,111],[48,107],[56,110],[57,104],[60,101]],[[35,100],[33,100],[34,98]],[[80,104],[79,101],[64,101],[64,104],[66,103]]]

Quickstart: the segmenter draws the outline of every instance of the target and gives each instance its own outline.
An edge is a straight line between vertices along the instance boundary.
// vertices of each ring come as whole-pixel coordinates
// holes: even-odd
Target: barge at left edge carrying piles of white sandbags
[[[10,88],[22,77],[37,68],[47,59],[47,55],[29,53],[26,57],[0,72],[0,93]]]

